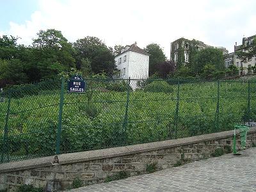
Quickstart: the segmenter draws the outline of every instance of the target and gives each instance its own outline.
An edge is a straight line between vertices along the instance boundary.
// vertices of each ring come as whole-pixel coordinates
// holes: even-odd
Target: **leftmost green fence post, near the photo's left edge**
[[[4,152],[7,153],[7,161],[9,161],[8,120],[9,120],[9,116],[10,116],[10,105],[11,105],[11,97],[10,97],[10,93],[8,93],[8,106],[7,106],[6,116],[5,116],[4,138],[3,138],[3,149],[2,149],[1,163],[3,163],[3,161],[4,161]]]

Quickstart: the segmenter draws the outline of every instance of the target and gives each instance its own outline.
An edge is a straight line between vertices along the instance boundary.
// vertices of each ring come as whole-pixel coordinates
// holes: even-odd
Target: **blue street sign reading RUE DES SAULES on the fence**
[[[84,93],[86,83],[81,76],[72,76],[68,79],[68,92],[69,93]]]

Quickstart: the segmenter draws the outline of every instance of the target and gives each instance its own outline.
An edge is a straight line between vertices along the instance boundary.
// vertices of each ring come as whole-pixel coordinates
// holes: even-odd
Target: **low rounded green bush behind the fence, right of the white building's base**
[[[166,81],[154,81],[150,84],[147,84],[144,88],[144,92],[154,92],[154,93],[172,93],[173,88]]]

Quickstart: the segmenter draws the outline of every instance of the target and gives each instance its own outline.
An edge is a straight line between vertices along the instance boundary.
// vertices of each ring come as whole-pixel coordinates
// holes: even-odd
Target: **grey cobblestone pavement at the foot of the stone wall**
[[[256,148],[70,190],[81,191],[256,191]]]

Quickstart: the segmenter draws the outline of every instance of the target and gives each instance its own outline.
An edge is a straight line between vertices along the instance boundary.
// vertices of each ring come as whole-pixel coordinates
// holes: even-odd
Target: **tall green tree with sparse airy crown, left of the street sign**
[[[34,81],[54,78],[61,71],[70,70],[75,66],[72,44],[68,43],[61,31],[47,29],[39,31],[37,35],[33,40],[33,60],[28,67],[39,73],[39,76],[33,76]]]

